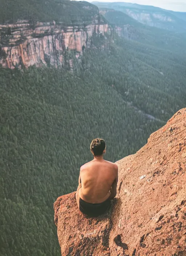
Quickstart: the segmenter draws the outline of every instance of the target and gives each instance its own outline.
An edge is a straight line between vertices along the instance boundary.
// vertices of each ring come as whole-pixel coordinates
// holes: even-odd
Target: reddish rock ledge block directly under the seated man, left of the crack
[[[75,192],[58,197],[54,203],[61,255],[109,256],[111,212],[98,218],[87,218],[78,211]]]

